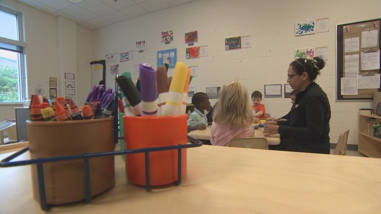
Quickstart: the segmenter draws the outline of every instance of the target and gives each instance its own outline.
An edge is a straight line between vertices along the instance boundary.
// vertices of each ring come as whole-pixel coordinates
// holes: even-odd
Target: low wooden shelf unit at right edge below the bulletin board
[[[381,122],[381,117],[375,114],[360,114],[359,124],[359,152],[368,157],[381,158],[381,138],[373,136],[373,123],[367,122],[375,118],[376,123]]]

